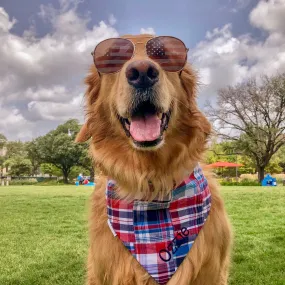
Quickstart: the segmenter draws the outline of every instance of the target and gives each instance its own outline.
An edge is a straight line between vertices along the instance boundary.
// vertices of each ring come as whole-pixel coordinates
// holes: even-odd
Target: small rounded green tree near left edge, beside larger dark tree
[[[29,176],[32,172],[32,163],[29,159],[22,156],[14,156],[4,162],[6,167],[9,167],[9,175],[11,176]]]

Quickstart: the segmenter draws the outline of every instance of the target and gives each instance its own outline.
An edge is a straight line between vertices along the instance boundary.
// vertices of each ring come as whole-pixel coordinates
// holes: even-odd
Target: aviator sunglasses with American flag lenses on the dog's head
[[[181,40],[170,36],[155,37],[145,43],[147,56],[168,72],[184,68],[188,50]],[[115,73],[134,56],[135,44],[128,39],[111,38],[100,42],[91,54],[99,73]]]

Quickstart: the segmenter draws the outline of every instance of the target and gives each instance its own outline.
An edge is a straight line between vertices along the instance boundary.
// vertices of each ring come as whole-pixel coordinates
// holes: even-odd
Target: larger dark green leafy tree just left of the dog
[[[69,120],[57,127],[56,130],[36,140],[38,153],[42,161],[51,163],[62,171],[64,182],[73,166],[80,165],[86,144],[74,142],[80,126],[77,120]]]

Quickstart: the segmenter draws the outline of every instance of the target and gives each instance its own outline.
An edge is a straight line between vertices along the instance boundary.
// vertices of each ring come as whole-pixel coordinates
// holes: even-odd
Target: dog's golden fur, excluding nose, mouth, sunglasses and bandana
[[[146,59],[143,52],[151,36],[126,36],[137,43],[136,54],[129,61]],[[86,124],[77,141],[90,141],[90,150],[103,174],[92,195],[88,285],[157,284],[141,267],[107,225],[105,187],[107,177],[116,180],[122,195],[152,199],[165,195],[180,183],[202,160],[210,124],[196,105],[197,77],[187,65],[181,74],[160,73],[156,93],[163,111],[171,108],[172,116],[164,133],[164,144],[151,151],[136,149],[125,135],[117,114],[128,116],[131,91],[125,69],[115,74],[98,75],[91,68],[86,79]],[[230,262],[231,231],[222,199],[211,175],[206,175],[211,194],[210,215],[182,265],[169,285],[225,285]],[[149,188],[149,181],[154,190]]]

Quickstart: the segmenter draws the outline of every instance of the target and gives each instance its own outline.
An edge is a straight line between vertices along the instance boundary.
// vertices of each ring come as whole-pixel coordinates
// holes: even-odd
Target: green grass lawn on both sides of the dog
[[[0,187],[0,285],[84,284],[91,191]],[[230,284],[285,284],[285,187],[222,194],[235,233]]]

